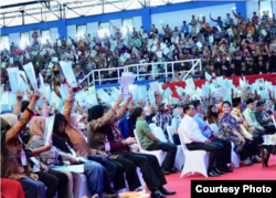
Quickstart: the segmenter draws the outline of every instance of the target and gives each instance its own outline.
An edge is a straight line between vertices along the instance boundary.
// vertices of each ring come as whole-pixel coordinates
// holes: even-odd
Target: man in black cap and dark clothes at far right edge
[[[257,102],[255,116],[261,126],[265,128],[266,133],[274,134],[276,132],[276,128],[273,123],[273,117],[272,115],[266,116],[266,114],[264,113],[264,104],[265,102],[263,101]]]

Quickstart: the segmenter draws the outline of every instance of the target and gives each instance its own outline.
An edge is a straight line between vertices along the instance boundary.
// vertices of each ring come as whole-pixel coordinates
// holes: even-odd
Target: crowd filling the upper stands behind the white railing
[[[13,43],[10,50],[1,51],[1,67],[21,67],[32,62],[36,74],[42,73],[45,82],[51,86],[60,86],[64,79],[60,70],[59,61],[71,61],[77,80],[82,80],[93,70],[115,69],[95,73],[95,80],[100,75],[100,83],[117,83],[118,72],[116,67],[139,63],[156,63],[129,69],[130,72],[145,75],[145,79],[164,79],[172,76],[159,75],[163,73],[164,65],[160,62],[181,60],[202,60],[202,70],[194,69],[194,80],[204,79],[204,72],[217,76],[235,76],[275,72],[273,66],[275,58],[275,18],[269,19],[264,12],[258,17],[254,12],[252,19],[243,19],[240,13],[233,11],[233,17],[227,13],[214,20],[208,17],[192,15],[191,20],[183,21],[181,30],[170,24],[152,24],[149,32],[132,28],[126,32],[110,23],[110,34],[99,37],[91,34],[71,35],[44,41],[40,32],[34,29],[31,42],[28,44]],[[189,22],[190,21],[190,22]],[[208,22],[210,21],[213,27]],[[157,25],[161,25],[157,29]],[[62,37],[62,35],[61,35]],[[42,42],[43,41],[43,42]],[[21,46],[21,48],[19,48]],[[168,71],[180,73],[176,81],[182,81],[184,71],[191,69],[191,63],[173,63],[168,65]],[[121,70],[123,72],[124,70]],[[38,75],[36,75],[38,76]],[[113,80],[108,80],[113,79]],[[1,72],[1,83],[8,86],[6,72]],[[94,81],[95,81],[94,80]],[[93,79],[91,79],[91,82]],[[82,86],[85,86],[85,81]],[[96,82],[98,83],[98,81]]]

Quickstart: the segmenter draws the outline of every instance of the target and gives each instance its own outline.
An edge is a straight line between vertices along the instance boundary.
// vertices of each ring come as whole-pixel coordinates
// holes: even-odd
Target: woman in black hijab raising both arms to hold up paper
[[[123,101],[120,95],[115,103],[115,105],[104,114],[104,107],[102,105],[93,106],[88,110],[88,127],[87,127],[87,140],[88,147],[93,154],[99,154],[102,156],[108,157],[106,152],[109,152],[109,143],[107,138],[107,132],[109,126],[116,123],[124,114],[127,112],[127,105],[130,102],[129,100],[116,112],[119,104]],[[109,177],[114,184],[114,189],[119,190],[126,188],[125,177],[124,177],[124,166],[116,160],[116,156],[109,157],[109,160],[100,161],[103,166],[108,170],[109,166],[116,166],[116,174],[109,171]],[[126,171],[126,170],[125,170]],[[130,173],[130,174],[129,174]],[[131,178],[132,180],[129,184],[130,189],[138,188],[140,186],[139,178],[134,166],[128,167],[127,169],[127,179]],[[128,180],[129,181],[129,180]]]

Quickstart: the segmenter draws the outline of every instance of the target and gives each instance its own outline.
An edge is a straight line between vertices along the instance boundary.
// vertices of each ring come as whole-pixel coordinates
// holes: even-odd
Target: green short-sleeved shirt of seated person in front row
[[[147,137],[147,134],[151,133],[151,129],[146,119],[142,118],[137,119],[136,133],[144,149],[147,149],[153,143],[153,140]]]

